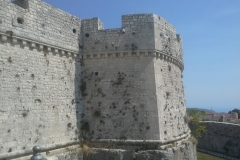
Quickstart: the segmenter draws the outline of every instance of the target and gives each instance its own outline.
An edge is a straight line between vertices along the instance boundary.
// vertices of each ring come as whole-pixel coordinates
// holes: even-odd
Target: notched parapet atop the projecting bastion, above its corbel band
[[[98,18],[82,21],[81,52],[148,52],[155,50],[182,62],[182,44],[175,28],[155,14],[122,16],[122,27],[104,29]]]

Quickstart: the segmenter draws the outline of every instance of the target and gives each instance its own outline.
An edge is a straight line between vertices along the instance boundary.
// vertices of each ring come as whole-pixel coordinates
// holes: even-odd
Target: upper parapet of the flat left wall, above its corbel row
[[[78,52],[81,20],[41,0],[0,1],[0,31]]]

